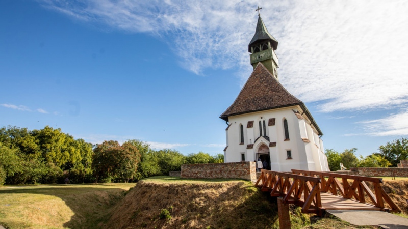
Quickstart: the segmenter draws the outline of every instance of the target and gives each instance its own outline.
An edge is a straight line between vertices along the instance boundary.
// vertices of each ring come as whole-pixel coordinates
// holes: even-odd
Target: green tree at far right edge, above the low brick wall
[[[401,160],[408,159],[408,139],[402,137],[401,139],[387,142],[385,146],[379,147],[379,151],[393,167],[397,167]]]

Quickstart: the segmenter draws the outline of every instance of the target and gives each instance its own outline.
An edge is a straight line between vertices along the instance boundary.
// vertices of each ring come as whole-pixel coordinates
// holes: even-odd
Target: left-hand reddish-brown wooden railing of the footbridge
[[[320,178],[261,169],[255,186],[270,191],[271,196],[283,197],[285,203],[302,207],[302,213],[322,215]]]

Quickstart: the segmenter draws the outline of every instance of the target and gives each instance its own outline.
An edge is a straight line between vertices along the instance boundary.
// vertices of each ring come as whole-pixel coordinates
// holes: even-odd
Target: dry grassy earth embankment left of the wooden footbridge
[[[160,218],[163,209],[169,211]],[[277,208],[250,182],[147,183],[140,181],[112,210],[104,228],[265,228]]]

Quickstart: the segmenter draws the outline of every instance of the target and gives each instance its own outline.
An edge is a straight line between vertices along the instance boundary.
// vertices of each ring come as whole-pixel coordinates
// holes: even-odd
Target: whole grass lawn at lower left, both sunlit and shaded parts
[[[135,183],[5,185],[0,225],[6,228],[97,228]]]

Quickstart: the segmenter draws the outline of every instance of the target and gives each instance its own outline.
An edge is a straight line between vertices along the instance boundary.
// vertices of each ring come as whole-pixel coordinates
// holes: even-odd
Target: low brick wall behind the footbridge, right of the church
[[[367,176],[367,177],[408,177],[408,167],[404,168],[350,168],[345,171],[333,171],[331,173]]]

